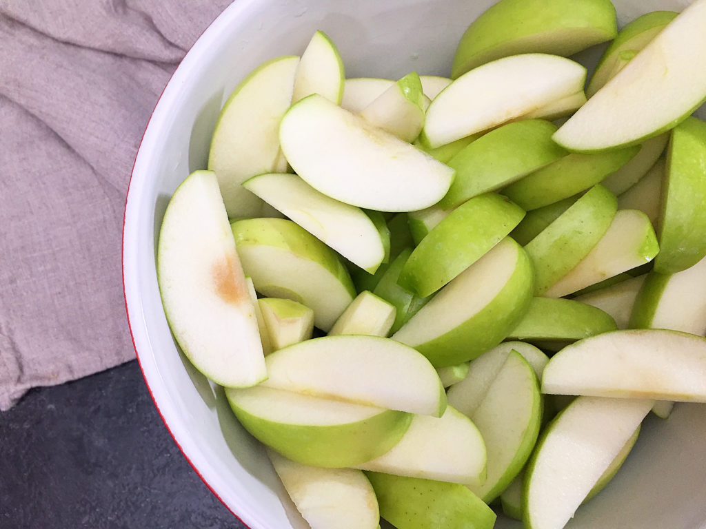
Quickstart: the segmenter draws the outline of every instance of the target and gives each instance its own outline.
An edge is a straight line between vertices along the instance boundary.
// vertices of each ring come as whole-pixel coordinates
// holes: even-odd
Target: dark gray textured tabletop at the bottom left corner
[[[229,528],[164,427],[136,361],[0,413],[0,528]]]

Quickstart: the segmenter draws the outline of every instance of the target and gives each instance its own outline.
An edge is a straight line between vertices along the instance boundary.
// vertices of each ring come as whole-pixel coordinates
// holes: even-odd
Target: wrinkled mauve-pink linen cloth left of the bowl
[[[0,410],[134,358],[131,167],[169,75],[227,4],[0,2]]]

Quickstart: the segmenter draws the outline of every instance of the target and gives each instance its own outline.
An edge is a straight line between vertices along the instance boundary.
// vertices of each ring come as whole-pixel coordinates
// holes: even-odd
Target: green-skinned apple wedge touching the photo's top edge
[[[616,36],[616,11],[608,0],[501,0],[461,37],[451,77],[508,55],[570,56]]]

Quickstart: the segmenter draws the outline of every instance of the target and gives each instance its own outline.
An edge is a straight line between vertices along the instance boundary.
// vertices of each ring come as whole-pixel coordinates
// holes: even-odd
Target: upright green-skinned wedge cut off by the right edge
[[[671,133],[662,186],[659,254],[654,269],[672,274],[706,256],[706,123],[686,118]]]

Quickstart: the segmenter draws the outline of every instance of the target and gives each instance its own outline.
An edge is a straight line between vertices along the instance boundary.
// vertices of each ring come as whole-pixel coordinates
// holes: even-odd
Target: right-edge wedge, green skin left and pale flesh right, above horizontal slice
[[[630,327],[706,334],[706,258],[676,274],[647,274]]]

